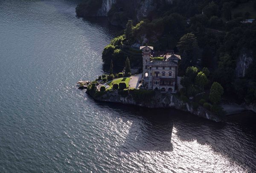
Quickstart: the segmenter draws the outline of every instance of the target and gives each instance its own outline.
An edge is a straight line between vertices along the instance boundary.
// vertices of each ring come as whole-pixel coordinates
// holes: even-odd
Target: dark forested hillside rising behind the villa
[[[140,67],[138,46],[147,43],[155,50],[180,54],[180,76],[189,66],[207,67],[209,81],[219,82],[224,95],[236,101],[256,100],[256,22],[242,23],[256,18],[256,0],[151,1],[153,10],[141,20],[136,11],[140,7],[131,10],[134,4],[125,6],[122,0],[113,4],[109,20],[128,23],[102,53],[106,70],[111,60],[120,69],[127,57],[131,66]]]

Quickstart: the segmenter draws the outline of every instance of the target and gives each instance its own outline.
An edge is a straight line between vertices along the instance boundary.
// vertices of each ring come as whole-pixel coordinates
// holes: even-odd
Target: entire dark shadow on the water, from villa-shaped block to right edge
[[[109,107],[120,116],[129,116],[133,124],[129,130],[124,152],[173,151],[171,143],[173,128],[175,136],[182,141],[197,141],[209,145],[213,151],[227,156],[247,171],[256,172],[256,116],[247,115],[250,122],[229,118],[226,122],[213,122],[188,112],[173,109],[147,109],[129,105],[97,102]],[[248,129],[249,128],[249,129]],[[249,169],[249,170],[248,170]]]

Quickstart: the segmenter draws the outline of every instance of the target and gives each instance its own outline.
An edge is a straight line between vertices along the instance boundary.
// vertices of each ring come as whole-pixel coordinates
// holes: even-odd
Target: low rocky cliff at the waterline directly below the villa
[[[94,99],[98,101],[131,104],[148,108],[175,108],[177,110],[190,112],[194,115],[212,121],[221,121],[221,118],[214,115],[212,112],[208,111],[204,107],[199,106],[197,109],[194,109],[191,105],[180,101],[178,98],[175,97],[175,95],[172,95],[171,93],[162,94],[160,92],[156,92],[156,95],[150,101],[137,102],[134,100],[131,94],[128,94],[127,96],[122,96],[118,93],[118,91],[115,90],[106,92],[104,95],[96,97]]]

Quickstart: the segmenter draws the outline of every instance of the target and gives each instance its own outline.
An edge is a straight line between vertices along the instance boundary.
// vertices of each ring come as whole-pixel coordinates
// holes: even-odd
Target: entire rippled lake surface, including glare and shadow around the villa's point
[[[256,116],[215,123],[93,101],[115,29],[71,0],[0,0],[0,172],[256,172]]]

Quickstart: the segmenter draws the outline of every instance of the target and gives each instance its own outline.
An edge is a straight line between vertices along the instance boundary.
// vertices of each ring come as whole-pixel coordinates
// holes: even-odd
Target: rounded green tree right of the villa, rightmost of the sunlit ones
[[[218,104],[221,101],[221,95],[223,95],[224,89],[218,82],[213,82],[211,89],[209,100],[212,104]]]

